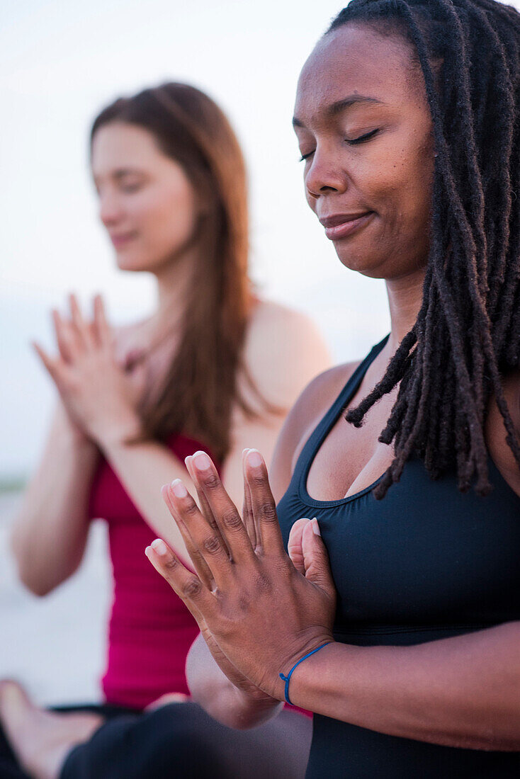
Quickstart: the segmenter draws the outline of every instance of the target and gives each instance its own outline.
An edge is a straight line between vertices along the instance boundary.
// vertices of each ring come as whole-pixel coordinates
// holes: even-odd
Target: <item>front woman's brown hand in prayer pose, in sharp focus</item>
[[[206,627],[216,644],[208,643],[210,650],[221,653],[249,686],[283,700],[279,673],[334,640],[336,594],[317,522],[296,523],[293,564],[283,547],[267,469],[256,450],[245,456],[243,522],[207,455],[196,453],[190,466],[207,504],[202,511],[180,480],[164,487],[163,495],[195,572],[164,542],[154,542],[147,555]]]

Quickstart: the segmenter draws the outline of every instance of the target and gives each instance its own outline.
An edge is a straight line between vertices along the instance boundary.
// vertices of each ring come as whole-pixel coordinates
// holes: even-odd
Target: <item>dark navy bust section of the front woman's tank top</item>
[[[279,506],[282,531],[287,540],[296,519],[317,517],[337,633],[520,619],[520,499],[491,463],[490,475],[486,498],[462,495],[453,475],[430,480],[419,460],[382,501],[368,490],[329,505],[292,484]]]

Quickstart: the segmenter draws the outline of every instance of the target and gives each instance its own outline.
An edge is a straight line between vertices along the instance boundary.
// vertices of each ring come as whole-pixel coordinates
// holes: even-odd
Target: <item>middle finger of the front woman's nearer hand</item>
[[[205,452],[196,452],[191,463],[232,559],[252,562],[255,554],[246,527],[210,457]]]

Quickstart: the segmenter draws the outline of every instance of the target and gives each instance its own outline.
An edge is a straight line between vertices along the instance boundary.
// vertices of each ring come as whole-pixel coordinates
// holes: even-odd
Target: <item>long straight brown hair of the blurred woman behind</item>
[[[253,302],[242,151],[221,109],[188,84],[166,83],[115,100],[95,119],[90,143],[109,122],[147,129],[182,165],[205,206],[194,236],[199,251],[182,337],[161,392],[143,401],[144,436],[164,441],[182,432],[222,462],[231,447],[233,405],[253,415],[237,386],[239,368],[247,376],[242,347]]]

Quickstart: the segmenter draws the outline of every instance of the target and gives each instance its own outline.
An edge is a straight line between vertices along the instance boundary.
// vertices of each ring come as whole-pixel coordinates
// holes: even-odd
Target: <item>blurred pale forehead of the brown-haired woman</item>
[[[164,155],[151,132],[125,122],[109,122],[97,130],[92,142],[94,172],[111,168],[155,167],[164,164]]]

